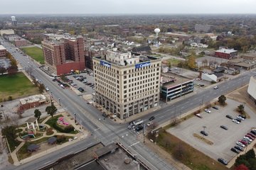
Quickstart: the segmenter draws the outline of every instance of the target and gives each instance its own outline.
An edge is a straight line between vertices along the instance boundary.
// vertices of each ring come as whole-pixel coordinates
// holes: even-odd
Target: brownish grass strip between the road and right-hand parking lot
[[[186,144],[182,140],[178,139],[174,135],[168,132],[161,132],[157,144],[174,155],[174,157],[179,157],[183,164],[186,164],[191,169],[196,170],[227,170],[223,164],[220,164],[214,159],[211,159],[206,154],[194,149],[190,145]]]

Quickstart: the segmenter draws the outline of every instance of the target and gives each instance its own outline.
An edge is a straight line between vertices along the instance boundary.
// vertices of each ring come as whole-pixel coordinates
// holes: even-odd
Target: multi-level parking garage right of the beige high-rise
[[[176,74],[161,74],[161,99],[172,101],[175,98],[193,92],[194,81],[186,77],[179,77]]]

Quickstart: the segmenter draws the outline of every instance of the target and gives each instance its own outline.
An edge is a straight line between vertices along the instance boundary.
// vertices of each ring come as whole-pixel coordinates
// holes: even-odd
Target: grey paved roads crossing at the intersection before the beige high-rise
[[[53,91],[55,101],[60,101],[61,106],[63,106],[63,108],[71,115],[74,116],[75,113],[77,120],[82,123],[87,130],[92,132],[92,139],[89,138],[82,140],[80,143],[72,145],[71,148],[79,150],[83,147],[89,147],[92,141],[101,141],[104,145],[108,145],[114,141],[119,141],[122,142],[125,147],[129,147],[130,151],[137,154],[137,157],[149,164],[152,169],[175,169],[171,164],[168,164],[163,159],[156,157],[154,152],[151,152],[151,150],[149,150],[142,142],[138,142],[137,134],[131,130],[127,130],[127,124],[117,124],[109,119],[104,120],[100,111],[97,111],[93,106],[87,105],[85,101],[83,101],[82,98],[77,96],[73,91],[70,91],[69,89],[61,89],[60,86],[56,86],[56,83],[51,81],[53,78],[46,75],[41,71],[41,69],[38,69],[38,66],[33,63],[29,57],[27,58],[18,52],[13,52],[14,47],[8,42],[4,42],[3,45],[14,55],[16,60],[18,60],[23,67],[31,66],[33,68],[32,74],[40,79],[43,84],[48,86],[50,91]],[[220,87],[218,90],[205,89],[191,97],[185,96],[183,97],[183,100],[169,106],[166,105],[157,111],[143,116],[142,118],[144,120],[148,120],[151,115],[154,115],[157,123],[164,123],[166,120],[170,120],[174,116],[190,111],[191,109],[201,105],[201,103],[211,101],[213,98],[217,98],[221,94],[226,94],[229,91],[237,89],[239,86],[242,86],[242,84],[247,84],[250,76],[252,76],[252,73],[246,72],[236,79],[225,81],[223,84],[218,85]],[[60,98],[60,100],[58,100],[58,98]],[[18,169],[38,169],[42,165],[49,164],[49,160],[55,160],[62,157],[64,154],[68,154],[70,152],[70,148],[63,148],[58,150],[58,152],[61,153],[58,156],[55,153],[52,153],[34,161],[39,162],[38,160],[40,160],[40,164],[34,164],[34,162],[31,162],[31,164],[18,166]],[[9,168],[17,169],[17,167],[14,166]]]

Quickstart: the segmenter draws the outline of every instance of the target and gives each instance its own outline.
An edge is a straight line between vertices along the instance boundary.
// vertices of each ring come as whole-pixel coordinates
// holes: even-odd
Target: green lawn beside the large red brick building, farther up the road
[[[27,55],[31,56],[40,64],[44,64],[43,50],[39,47],[23,47],[21,48],[26,52]]]

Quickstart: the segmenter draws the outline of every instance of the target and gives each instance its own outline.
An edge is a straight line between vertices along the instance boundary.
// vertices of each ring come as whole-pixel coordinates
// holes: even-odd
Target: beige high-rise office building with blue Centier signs
[[[117,48],[94,57],[95,101],[120,119],[159,106],[161,59]]]

